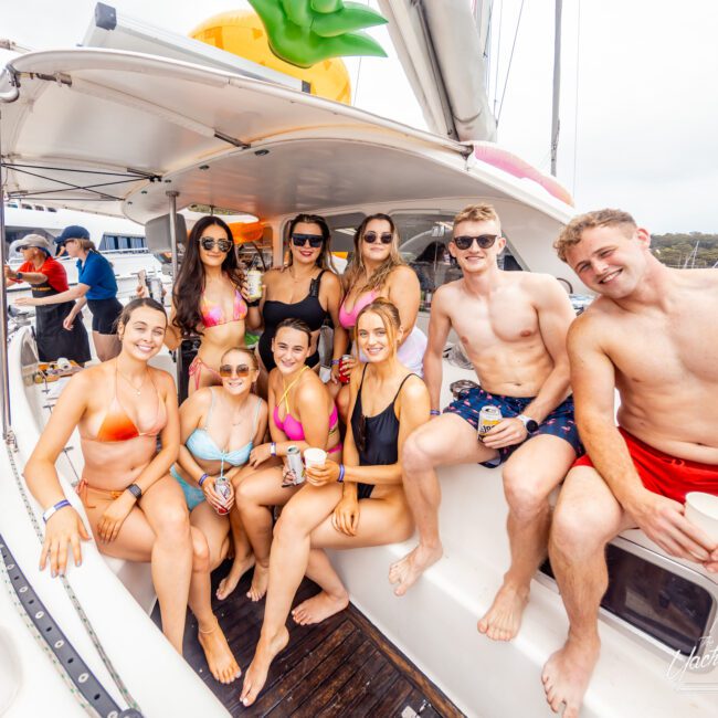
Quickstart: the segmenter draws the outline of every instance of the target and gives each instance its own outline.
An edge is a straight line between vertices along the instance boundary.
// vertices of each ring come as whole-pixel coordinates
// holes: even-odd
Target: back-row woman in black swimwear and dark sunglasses
[[[338,377],[339,358],[349,338],[339,324],[341,282],[331,262],[331,235],[326,221],[316,214],[297,214],[289,222],[289,263],[264,275],[264,297],[260,310],[264,331],[260,338],[260,358],[268,373],[276,366],[272,339],[283,319],[302,319],[312,329],[307,365],[317,367],[319,328],[327,317],[334,325],[332,378]]]

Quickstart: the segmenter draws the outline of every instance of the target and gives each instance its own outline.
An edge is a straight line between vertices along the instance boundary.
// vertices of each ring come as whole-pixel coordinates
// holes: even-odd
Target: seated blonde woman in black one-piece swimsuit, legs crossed
[[[297,623],[318,623],[349,603],[323,549],[393,543],[413,531],[398,457],[406,436],[429,421],[429,391],[397,359],[401,328],[393,304],[377,299],[365,307],[355,335],[368,362],[351,374],[345,463],[308,468],[307,485],[276,524],[264,623],[242,689],[245,706],[254,703],[289,640],[285,623],[305,573],[321,591],[292,612]]]

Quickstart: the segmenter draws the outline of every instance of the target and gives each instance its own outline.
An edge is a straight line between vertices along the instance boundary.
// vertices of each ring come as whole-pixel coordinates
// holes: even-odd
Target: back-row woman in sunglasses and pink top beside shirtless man
[[[344,274],[345,298],[339,308],[339,321],[353,331],[359,313],[374,299],[391,302],[401,318],[402,339],[397,359],[410,371],[423,376],[422,362],[426,336],[416,325],[421,299],[419,279],[399,253],[399,232],[388,214],[371,214],[359,225],[353,236],[353,260]],[[359,356],[361,361],[367,358]],[[350,370],[356,358],[345,366]],[[342,387],[337,404],[346,420],[349,389]]]

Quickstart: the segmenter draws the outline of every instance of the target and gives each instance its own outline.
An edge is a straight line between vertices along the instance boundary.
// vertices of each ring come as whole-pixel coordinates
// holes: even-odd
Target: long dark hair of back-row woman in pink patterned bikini
[[[204,265],[200,258],[199,239],[208,226],[222,228],[226,232],[226,239],[232,242],[232,231],[219,217],[208,215],[199,219],[187,240],[184,258],[180,265],[175,287],[172,288],[172,300],[175,303],[175,320],[172,324],[181,330],[182,335],[202,334],[198,327],[202,324],[200,302],[204,292]],[[222,272],[230,282],[240,289],[244,279],[244,270],[236,258],[234,245],[228,252],[222,262]]]

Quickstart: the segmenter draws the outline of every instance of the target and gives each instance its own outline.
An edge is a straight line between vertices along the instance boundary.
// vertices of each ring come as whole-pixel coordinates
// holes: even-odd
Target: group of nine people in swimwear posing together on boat
[[[553,710],[578,715],[599,655],[605,543],[638,526],[671,555],[718,570],[717,541],[683,510],[689,490],[718,494],[712,274],[665,267],[631,215],[591,212],[556,243],[601,295],[574,319],[557,279],[498,268],[499,218],[474,204],[454,220],[448,251],[463,276],[434,294],[426,339],[415,326],[420,283],[391,218],[360,224],[342,277],[330,240],[323,218],[295,218],[288,263],[265,274],[254,298],[226,224],[217,217],[194,224],[170,317],[149,298],[123,309],[119,353],[68,382],[25,466],[44,509],[41,566],[63,573],[68,550],[80,564],[89,536],[54,468],[77,427],[78,493],[99,550],[151,562],[168,640],[181,652],[189,604],[212,675],[224,683],[240,667],[212,613],[210,573],[233,556],[223,599],[254,566],[247,596],[266,596],[266,605],[242,688],[251,705],[289,640],[302,579],[320,592],[292,611],[295,622],[317,623],[348,604],[324,549],[404,541],[415,529],[418,546],[389,569],[401,596],[442,557],[436,468],[500,465],[511,562],[478,631],[496,641],[518,633],[548,551],[570,631],[542,682]],[[317,370],[327,324],[325,383]],[[246,329],[262,327],[258,350],[247,349]],[[451,329],[479,386],[442,409]],[[189,335],[201,344],[178,408],[171,377],[149,360]],[[477,437],[486,406],[501,419]],[[326,461],[307,462],[297,484],[287,456],[307,448],[324,450]]]

